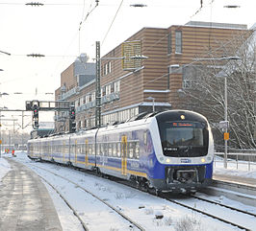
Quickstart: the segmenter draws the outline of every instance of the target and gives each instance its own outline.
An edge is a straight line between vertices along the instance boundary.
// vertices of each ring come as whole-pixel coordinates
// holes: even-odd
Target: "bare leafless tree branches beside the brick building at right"
[[[223,145],[218,123],[224,120],[224,78],[227,78],[229,146],[256,149],[256,31],[219,44],[223,57],[210,58],[184,68],[184,107],[201,112],[214,127],[217,147]],[[211,58],[212,57],[212,58]],[[231,60],[230,57],[239,57]]]

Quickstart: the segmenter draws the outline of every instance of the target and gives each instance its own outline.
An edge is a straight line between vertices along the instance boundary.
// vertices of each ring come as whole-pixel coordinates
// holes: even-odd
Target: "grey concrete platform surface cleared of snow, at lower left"
[[[7,160],[12,170],[0,183],[0,231],[63,230],[38,175],[12,159]]]

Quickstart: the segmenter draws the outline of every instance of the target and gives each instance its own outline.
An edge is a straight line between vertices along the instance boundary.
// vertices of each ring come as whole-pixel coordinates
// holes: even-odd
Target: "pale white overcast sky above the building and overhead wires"
[[[203,0],[200,11],[200,0],[99,0],[94,10],[95,0],[41,0],[34,1],[44,4],[40,7],[25,5],[31,2],[0,0],[0,51],[11,54],[0,53],[4,70],[0,71],[0,92],[10,94],[0,98],[0,107],[25,109],[25,101],[53,101],[54,96],[45,93],[54,93],[61,73],[79,54],[95,57],[96,40],[101,41],[104,56],[142,27],[167,28],[201,20],[250,28],[256,22],[255,0]],[[147,7],[130,7],[136,3]],[[227,5],[240,8],[224,8]],[[29,54],[45,58],[29,58]],[[40,118],[51,120],[52,114],[47,115]]]

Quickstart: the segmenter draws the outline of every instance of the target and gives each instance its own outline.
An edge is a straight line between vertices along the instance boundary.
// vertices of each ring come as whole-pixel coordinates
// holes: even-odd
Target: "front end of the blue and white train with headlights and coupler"
[[[192,111],[171,110],[157,115],[156,120],[161,140],[159,149],[155,147],[156,157],[163,172],[163,179],[154,182],[157,188],[193,193],[209,185],[214,141],[206,118]]]

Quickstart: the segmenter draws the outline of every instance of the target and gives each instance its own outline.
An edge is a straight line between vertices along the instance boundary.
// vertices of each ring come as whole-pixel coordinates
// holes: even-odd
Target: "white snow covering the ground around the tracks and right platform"
[[[16,155],[16,157],[12,157],[11,155],[9,155],[9,157],[15,158],[15,160],[18,160],[32,168],[36,173],[45,177],[51,182],[51,184],[57,187],[58,190],[63,192],[64,196],[66,196],[72,206],[76,208],[77,213],[83,219],[87,220],[90,230],[118,231],[130,229],[125,229],[121,221],[119,221],[119,223],[117,221],[117,223],[115,222],[115,224],[112,224],[109,217],[110,214],[103,211],[101,205],[97,204],[98,201],[96,201],[95,198],[90,199],[90,196],[80,197],[77,194],[76,187],[64,182],[64,180],[60,180],[58,177],[53,177],[50,173],[46,173],[43,170],[38,169],[37,166],[48,169],[54,173],[61,174],[64,177],[72,179],[79,185],[86,187],[90,192],[104,198],[115,206],[115,208],[121,210],[126,216],[137,220],[142,227],[145,227],[145,230],[238,230],[237,228],[223,224],[218,220],[196,214],[188,209],[168,202],[165,199],[142,193],[135,189],[119,185],[115,182],[52,164],[35,163],[28,159],[24,152],[17,152]],[[34,167],[31,164],[33,164]],[[232,168],[231,165],[229,165],[229,167]],[[7,160],[0,158],[0,184],[1,177],[4,177],[4,175],[11,170],[10,168],[11,167]],[[220,162],[217,163],[215,171],[217,173],[231,173],[233,175],[256,178],[256,171],[248,173],[245,170],[236,170],[236,166],[233,166],[232,171],[224,170],[223,164]],[[46,187],[55,203],[56,210],[64,230],[83,230],[81,224],[76,218],[74,218],[70,209],[67,208],[61,197],[49,186]],[[232,205],[237,203],[237,207],[243,207],[243,204],[236,201],[229,201],[226,198],[223,199],[223,197],[221,197],[221,199],[225,200],[226,203],[232,203]],[[142,208],[140,209],[139,207]],[[256,208],[248,206],[244,206],[244,208],[256,213]],[[164,215],[164,219],[155,219],[156,214]],[[189,224],[187,224],[189,227],[187,226],[187,229],[184,229],[184,226],[182,226],[184,224],[186,225],[184,220],[189,220]],[[251,220],[248,220],[248,222],[251,222]]]

